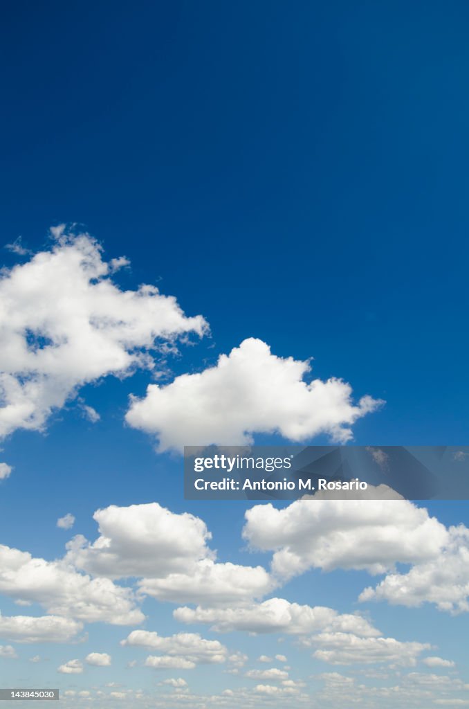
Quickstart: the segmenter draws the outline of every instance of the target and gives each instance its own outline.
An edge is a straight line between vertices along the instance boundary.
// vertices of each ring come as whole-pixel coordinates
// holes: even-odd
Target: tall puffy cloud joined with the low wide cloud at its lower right
[[[235,603],[264,596],[272,586],[262,566],[217,563],[205,523],[158,503],[110,506],[94,519],[100,536],[81,535],[67,548],[67,562],[97,576],[135,576],[140,591],[174,603]]]

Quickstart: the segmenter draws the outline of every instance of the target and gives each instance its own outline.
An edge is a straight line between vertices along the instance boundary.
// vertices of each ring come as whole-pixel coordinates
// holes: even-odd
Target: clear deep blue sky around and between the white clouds
[[[21,235],[36,250],[50,225],[84,225],[106,257],[130,258],[123,287],[157,283],[208,319],[174,372],[261,337],[386,400],[354,426],[357,444],[467,445],[468,22],[463,1],[4,6],[0,244]],[[245,562],[244,506],[183,501],[180,460],[123,428],[148,381],[86,387],[95,426],[71,406],[47,436],[5,443],[2,543],[53,559],[72,533],[96,537],[96,508],[157,499]],[[77,525],[57,530],[68,510]],[[461,504],[429,510],[469,523]],[[370,582],[315,572],[285,594],[349,612]],[[467,616],[371,611],[389,635],[465,657],[453,635]]]

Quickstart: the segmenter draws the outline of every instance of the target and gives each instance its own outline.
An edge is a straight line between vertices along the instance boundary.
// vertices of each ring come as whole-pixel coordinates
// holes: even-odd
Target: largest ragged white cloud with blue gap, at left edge
[[[44,428],[83,384],[154,368],[155,347],[203,335],[175,298],[113,282],[126,259],[103,260],[87,234],[52,230],[52,247],[0,278],[0,436]]]

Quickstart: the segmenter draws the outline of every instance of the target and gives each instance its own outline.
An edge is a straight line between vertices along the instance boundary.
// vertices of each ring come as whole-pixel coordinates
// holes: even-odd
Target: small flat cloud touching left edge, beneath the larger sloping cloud
[[[0,637],[13,642],[69,642],[83,629],[81,623],[57,615],[0,615]]]

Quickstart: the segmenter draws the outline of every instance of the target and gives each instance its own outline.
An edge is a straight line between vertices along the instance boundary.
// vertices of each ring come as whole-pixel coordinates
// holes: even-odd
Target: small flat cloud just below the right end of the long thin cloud
[[[329,664],[375,664],[385,662],[414,666],[428,643],[400,642],[393,637],[358,637],[344,632],[323,632],[309,644],[318,646],[313,657]]]

